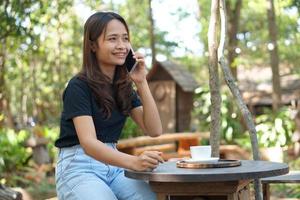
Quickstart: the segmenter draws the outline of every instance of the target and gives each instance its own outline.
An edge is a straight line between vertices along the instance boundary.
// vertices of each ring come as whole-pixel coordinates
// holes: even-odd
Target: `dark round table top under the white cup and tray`
[[[187,169],[177,168],[176,161],[160,164],[152,172],[125,170],[125,176],[153,182],[214,182],[249,180],[287,174],[285,163],[241,160],[241,165],[226,168]]]

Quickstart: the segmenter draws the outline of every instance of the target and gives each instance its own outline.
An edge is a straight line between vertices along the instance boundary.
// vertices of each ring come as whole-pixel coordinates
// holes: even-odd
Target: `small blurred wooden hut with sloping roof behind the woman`
[[[193,94],[198,84],[183,66],[156,62],[147,75],[150,90],[158,107],[163,132],[189,131]]]

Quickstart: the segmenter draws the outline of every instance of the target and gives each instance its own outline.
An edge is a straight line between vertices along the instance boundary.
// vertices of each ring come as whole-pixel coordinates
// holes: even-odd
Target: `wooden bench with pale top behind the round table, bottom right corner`
[[[261,179],[263,185],[263,199],[270,199],[270,184],[300,183],[300,171],[290,171],[288,174]]]

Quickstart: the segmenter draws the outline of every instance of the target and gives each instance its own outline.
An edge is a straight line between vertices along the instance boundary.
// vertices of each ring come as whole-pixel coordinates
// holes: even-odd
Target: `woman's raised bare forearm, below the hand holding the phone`
[[[147,80],[136,84],[136,86],[143,104],[143,121],[146,133],[152,137],[159,136],[162,134],[161,120]]]

